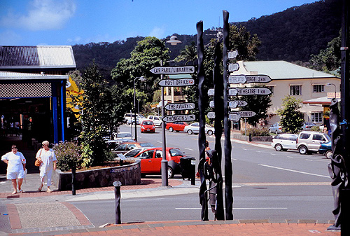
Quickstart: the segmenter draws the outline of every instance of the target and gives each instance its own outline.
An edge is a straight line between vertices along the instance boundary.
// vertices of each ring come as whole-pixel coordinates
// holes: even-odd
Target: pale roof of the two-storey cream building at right
[[[293,79],[293,78],[336,78],[332,74],[315,71],[284,61],[239,61],[239,70],[233,74],[265,74],[272,79]]]

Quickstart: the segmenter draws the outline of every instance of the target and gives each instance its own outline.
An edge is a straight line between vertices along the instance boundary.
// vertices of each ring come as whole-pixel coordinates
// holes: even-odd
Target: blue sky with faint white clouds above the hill
[[[0,45],[74,45],[196,34],[315,0],[0,0]]]

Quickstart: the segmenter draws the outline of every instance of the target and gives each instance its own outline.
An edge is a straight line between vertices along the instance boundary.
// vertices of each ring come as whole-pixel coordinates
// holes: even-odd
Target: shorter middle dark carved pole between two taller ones
[[[214,53],[214,71],[213,71],[213,83],[214,83],[214,112],[215,112],[215,150],[218,155],[218,174],[221,174],[221,136],[223,126],[221,122],[223,121],[223,76],[220,73],[220,64],[221,64],[221,49],[220,42],[217,42],[215,45]],[[219,221],[225,220],[225,214],[223,210],[223,182],[218,181],[216,186],[216,218]]]

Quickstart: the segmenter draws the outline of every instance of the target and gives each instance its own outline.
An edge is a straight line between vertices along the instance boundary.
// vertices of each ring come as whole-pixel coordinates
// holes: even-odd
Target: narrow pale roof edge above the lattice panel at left
[[[19,73],[19,72],[8,72],[0,71],[0,81],[8,80],[55,80],[55,79],[68,79],[69,76],[65,75],[45,75],[45,74],[32,74],[32,73]]]

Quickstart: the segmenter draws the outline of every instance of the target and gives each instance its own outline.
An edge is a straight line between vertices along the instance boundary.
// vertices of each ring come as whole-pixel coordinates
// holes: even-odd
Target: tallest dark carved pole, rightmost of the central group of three
[[[228,45],[230,25],[228,24],[228,11],[223,11],[223,130],[225,134],[225,205],[226,220],[233,220],[232,205],[232,162],[231,162],[231,127],[228,120]]]

